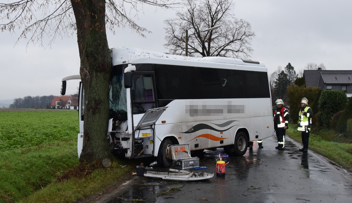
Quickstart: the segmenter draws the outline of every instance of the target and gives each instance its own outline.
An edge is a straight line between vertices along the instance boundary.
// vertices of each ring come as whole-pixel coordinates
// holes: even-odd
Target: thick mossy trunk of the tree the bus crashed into
[[[71,0],[77,25],[84,86],[84,138],[80,162],[111,158],[107,140],[111,55],[105,29],[105,0]]]

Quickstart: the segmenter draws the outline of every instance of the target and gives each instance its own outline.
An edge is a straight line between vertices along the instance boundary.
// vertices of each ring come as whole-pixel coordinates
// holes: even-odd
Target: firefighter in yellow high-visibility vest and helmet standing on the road
[[[306,97],[301,99],[301,109],[298,117],[298,131],[301,131],[303,148],[298,151],[307,152],[310,125],[312,124],[313,110],[308,106],[308,100]]]

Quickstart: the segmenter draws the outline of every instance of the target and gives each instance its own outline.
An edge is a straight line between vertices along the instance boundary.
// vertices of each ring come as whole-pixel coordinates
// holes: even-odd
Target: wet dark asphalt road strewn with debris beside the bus
[[[263,149],[254,142],[253,150],[242,157],[230,157],[224,177],[215,175],[214,156],[222,149],[206,150],[200,159],[201,172],[214,172],[202,181],[170,181],[133,177],[96,203],[117,202],[352,202],[352,176],[325,158],[298,151],[301,144],[290,138],[285,150],[275,149],[276,136],[263,140]],[[154,171],[162,171],[153,166]],[[187,169],[186,169],[187,170]],[[169,191],[168,191],[169,190]]]

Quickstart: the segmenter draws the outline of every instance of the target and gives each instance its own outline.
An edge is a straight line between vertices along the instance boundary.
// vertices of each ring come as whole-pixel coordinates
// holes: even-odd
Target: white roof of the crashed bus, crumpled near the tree
[[[197,66],[209,68],[225,68],[225,69],[243,69],[253,71],[266,72],[263,62],[234,59],[220,56],[208,57],[190,57],[181,55],[172,55],[167,53],[153,52],[145,49],[123,47],[112,48],[112,65],[121,65],[126,63],[154,63],[165,65],[179,66]],[[237,67],[236,67],[237,66]]]

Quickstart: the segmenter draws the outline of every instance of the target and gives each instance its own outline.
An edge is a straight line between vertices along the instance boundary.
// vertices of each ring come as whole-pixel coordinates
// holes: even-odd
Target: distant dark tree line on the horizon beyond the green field
[[[29,108],[50,108],[54,95],[50,96],[25,96],[23,98],[15,98],[9,108],[12,109],[29,109]]]

